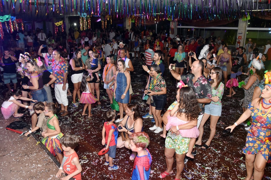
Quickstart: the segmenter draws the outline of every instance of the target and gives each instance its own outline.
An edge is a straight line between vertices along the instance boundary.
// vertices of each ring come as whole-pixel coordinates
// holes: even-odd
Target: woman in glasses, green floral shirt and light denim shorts
[[[198,141],[196,141],[195,145],[201,147],[201,140],[202,140],[202,135],[203,135],[203,127],[208,118],[210,118],[210,135],[209,139],[207,142],[205,142],[204,145],[202,145],[202,149],[207,149],[210,144],[212,139],[215,136],[215,130],[217,126],[217,121],[221,116],[222,112],[222,103],[221,99],[224,93],[224,84],[221,82],[222,81],[222,69],[220,67],[213,67],[211,69],[210,73],[211,77],[211,88],[212,88],[212,101],[209,104],[205,104],[205,112],[201,120],[201,124],[199,125],[199,137]]]

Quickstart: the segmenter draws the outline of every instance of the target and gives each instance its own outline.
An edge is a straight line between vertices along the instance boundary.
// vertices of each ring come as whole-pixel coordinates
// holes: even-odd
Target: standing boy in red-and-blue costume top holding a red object
[[[113,111],[107,111],[104,115],[105,123],[102,128],[102,145],[109,151],[105,154],[104,165],[109,165],[109,170],[117,170],[119,166],[113,165],[113,158],[116,157],[118,130],[114,124],[116,114]]]

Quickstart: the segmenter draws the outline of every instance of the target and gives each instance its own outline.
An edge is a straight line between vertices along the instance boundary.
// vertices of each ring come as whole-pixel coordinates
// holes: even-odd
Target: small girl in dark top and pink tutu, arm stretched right
[[[231,79],[228,80],[228,82],[226,83],[226,87],[230,88],[230,94],[226,96],[231,97],[235,94],[233,87],[237,87],[239,85],[236,78],[237,76],[240,76],[241,74],[245,74],[245,73],[238,71],[238,66],[233,65],[233,67],[231,68]]]

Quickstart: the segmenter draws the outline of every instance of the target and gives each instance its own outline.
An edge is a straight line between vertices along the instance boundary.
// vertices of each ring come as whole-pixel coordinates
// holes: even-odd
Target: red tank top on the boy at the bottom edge
[[[64,151],[64,157],[62,160],[62,164],[61,167],[63,168],[63,171],[67,174],[72,174],[73,172],[75,172],[77,170],[76,166],[72,164],[72,159],[77,157],[78,155],[76,154],[76,152],[70,154],[70,155],[66,155],[66,152]],[[79,158],[78,158],[79,159]],[[76,180],[81,180],[81,173],[73,176],[74,179]]]

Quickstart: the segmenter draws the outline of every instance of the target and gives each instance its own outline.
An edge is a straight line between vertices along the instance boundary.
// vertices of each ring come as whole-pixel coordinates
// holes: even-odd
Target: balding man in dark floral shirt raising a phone
[[[172,76],[177,80],[182,80],[187,86],[190,86],[193,88],[196,94],[196,98],[199,103],[199,107],[201,108],[201,112],[198,116],[198,122],[197,127],[201,124],[202,117],[204,115],[204,105],[211,103],[211,97],[212,97],[212,90],[211,90],[211,84],[209,81],[202,75],[203,69],[204,69],[204,63],[201,60],[196,60],[192,63],[191,67],[191,73],[188,75],[180,75],[179,73],[176,73],[171,69],[171,65],[169,66],[169,70],[172,74]],[[195,126],[195,123],[192,121],[186,123],[183,125],[184,129],[191,129]],[[190,158],[194,158],[193,155],[196,155],[196,151],[193,151],[193,146],[196,142],[195,138],[191,138],[191,143],[189,143],[188,152],[186,154],[185,163]]]

